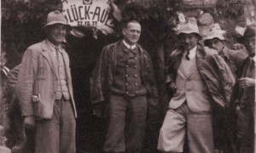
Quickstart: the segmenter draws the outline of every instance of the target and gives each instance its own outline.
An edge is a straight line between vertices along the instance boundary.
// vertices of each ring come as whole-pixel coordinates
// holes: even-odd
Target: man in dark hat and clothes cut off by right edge
[[[238,71],[238,80],[231,102],[236,105],[236,150],[237,153],[254,151],[254,105],[255,105],[255,31],[256,26],[247,26],[239,39],[249,57]]]

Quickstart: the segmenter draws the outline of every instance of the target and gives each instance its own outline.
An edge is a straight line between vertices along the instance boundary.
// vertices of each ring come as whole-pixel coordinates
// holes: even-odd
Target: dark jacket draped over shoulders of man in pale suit
[[[172,52],[166,82],[176,82],[177,70],[183,58],[183,48]],[[213,102],[224,108],[229,105],[235,78],[228,65],[218,54],[211,53],[201,44],[197,45],[196,65],[204,82],[207,84]],[[218,66],[212,66],[218,65]]]

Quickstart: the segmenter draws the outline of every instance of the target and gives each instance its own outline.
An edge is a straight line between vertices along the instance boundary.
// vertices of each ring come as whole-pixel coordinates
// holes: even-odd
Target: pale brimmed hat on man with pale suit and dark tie
[[[195,18],[188,19],[185,24],[180,24],[177,26],[177,37],[180,37],[181,34],[189,34],[189,33],[195,33],[201,39],[201,35],[198,30],[198,26]]]

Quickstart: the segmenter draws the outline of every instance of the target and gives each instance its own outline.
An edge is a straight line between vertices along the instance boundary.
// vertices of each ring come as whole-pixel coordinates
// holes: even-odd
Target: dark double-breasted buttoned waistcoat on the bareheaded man
[[[138,48],[127,48],[123,42],[117,45],[117,66],[113,75],[113,94],[126,94],[128,96],[146,95],[147,90],[141,79],[141,63]]]

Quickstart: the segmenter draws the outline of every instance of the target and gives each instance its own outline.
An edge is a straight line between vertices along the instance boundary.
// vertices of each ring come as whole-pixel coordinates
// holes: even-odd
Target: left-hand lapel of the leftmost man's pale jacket
[[[50,69],[55,73],[55,76],[57,77],[57,66],[54,64],[53,56],[51,55],[50,48],[46,44],[45,40],[42,45],[41,54],[44,56],[45,59],[47,59]]]

